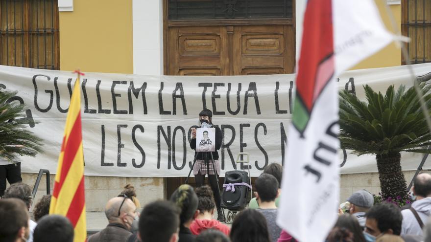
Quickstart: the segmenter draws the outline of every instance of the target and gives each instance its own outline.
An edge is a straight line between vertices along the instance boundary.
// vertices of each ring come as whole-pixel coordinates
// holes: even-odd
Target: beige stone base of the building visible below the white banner
[[[406,171],[407,185],[414,176],[415,171]],[[23,182],[33,187],[37,174],[23,174]],[[54,175],[51,175],[51,194]],[[379,175],[377,173],[345,174],[340,179],[340,201],[343,202],[353,192],[366,189],[372,194],[380,192]],[[163,199],[165,195],[164,178],[162,177],[112,177],[112,176],[85,176],[85,199],[87,211],[104,211],[105,203],[109,198],[120,194],[126,184],[132,184],[141,204],[144,205],[156,199]],[[46,194],[45,177],[42,178],[36,194],[35,201]]]

